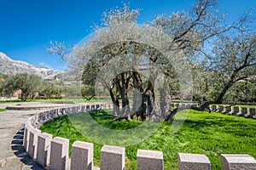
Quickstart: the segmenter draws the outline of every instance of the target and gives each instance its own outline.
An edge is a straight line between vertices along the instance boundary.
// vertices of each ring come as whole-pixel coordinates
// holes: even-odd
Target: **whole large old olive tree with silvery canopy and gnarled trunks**
[[[138,25],[140,10],[124,4],[103,13],[103,27],[71,54],[60,42],[52,42],[49,51],[66,59],[84,85],[95,92],[106,88],[114,116],[168,121],[177,112],[171,111],[171,94],[191,100],[193,89],[205,100],[195,109],[205,110],[222,103],[236,82],[255,77],[254,19],[245,14],[230,24],[215,5],[197,0],[188,13],[159,15]]]

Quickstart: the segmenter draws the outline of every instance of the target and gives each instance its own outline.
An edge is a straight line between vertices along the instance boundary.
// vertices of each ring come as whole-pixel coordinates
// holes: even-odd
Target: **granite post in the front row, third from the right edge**
[[[137,150],[137,170],[163,170],[163,152]]]

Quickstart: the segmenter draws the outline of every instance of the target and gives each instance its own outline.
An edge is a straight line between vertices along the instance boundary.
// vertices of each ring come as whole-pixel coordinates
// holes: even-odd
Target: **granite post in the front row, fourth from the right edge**
[[[124,170],[125,148],[104,145],[101,150],[101,170]]]

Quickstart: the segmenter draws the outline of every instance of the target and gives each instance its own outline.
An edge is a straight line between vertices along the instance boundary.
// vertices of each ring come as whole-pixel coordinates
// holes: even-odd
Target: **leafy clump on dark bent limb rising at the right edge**
[[[215,96],[202,105],[205,109],[210,104],[222,104],[224,95],[239,81],[255,77],[256,68],[256,37],[244,31],[236,36],[218,37],[212,42],[212,51],[205,54],[206,74],[218,80],[215,84]],[[213,87],[214,88],[214,87]]]

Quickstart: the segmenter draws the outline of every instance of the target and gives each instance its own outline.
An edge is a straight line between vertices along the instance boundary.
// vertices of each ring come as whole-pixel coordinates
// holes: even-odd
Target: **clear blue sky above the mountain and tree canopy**
[[[121,6],[120,0],[0,0],[0,52],[32,65],[62,70],[65,64],[49,54],[49,41],[73,45],[100,25],[102,12]],[[142,8],[138,23],[157,14],[188,11],[192,0],[131,0],[131,8]],[[218,10],[236,20],[256,0],[219,0]],[[255,16],[256,10],[253,9]]]

